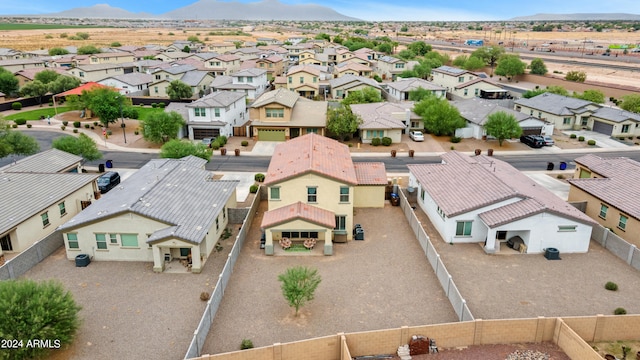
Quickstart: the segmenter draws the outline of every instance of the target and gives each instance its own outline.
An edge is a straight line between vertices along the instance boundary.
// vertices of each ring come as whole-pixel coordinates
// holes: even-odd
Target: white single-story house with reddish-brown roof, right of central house
[[[440,164],[408,167],[409,188],[446,242],[491,254],[518,236],[526,253],[589,250],[595,221],[504,161],[452,151]]]

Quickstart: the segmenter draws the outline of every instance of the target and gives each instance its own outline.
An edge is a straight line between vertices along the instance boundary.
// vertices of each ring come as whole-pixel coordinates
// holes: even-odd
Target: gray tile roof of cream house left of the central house
[[[191,157],[154,159],[59,227],[70,230],[118,214],[135,213],[165,223],[148,241],[170,236],[199,244],[238,181],[213,180]]]

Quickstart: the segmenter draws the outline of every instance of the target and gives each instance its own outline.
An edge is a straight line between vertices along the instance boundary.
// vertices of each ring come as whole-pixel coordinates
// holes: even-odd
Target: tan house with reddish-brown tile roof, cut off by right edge
[[[575,159],[569,201],[627,242],[640,246],[640,163],[594,154]]]

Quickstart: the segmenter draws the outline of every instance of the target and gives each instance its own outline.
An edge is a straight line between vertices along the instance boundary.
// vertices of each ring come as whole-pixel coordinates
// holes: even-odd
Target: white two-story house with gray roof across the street
[[[186,105],[189,140],[224,135],[233,136],[233,128],[247,122],[245,94],[217,91]]]

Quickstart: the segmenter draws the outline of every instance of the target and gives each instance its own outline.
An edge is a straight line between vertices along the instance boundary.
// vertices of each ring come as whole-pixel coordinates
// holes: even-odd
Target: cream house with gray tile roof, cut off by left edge
[[[0,168],[0,258],[26,250],[100,196],[99,174],[51,149]]]

